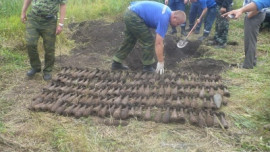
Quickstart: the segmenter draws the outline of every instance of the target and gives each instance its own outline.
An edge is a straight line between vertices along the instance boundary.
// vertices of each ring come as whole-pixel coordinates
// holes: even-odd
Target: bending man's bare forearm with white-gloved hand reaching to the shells
[[[163,74],[164,73],[164,44],[163,44],[163,38],[157,33],[156,34],[156,41],[155,41],[155,51],[157,55],[157,68],[156,72]]]

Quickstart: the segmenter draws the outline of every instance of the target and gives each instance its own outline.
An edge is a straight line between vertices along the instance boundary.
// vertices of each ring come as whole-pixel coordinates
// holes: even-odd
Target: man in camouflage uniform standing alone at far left
[[[32,10],[26,16],[27,8],[32,2]],[[45,50],[45,66],[43,79],[50,80],[55,61],[55,40],[64,26],[67,0],[24,0],[21,20],[26,24],[26,46],[30,59],[31,70],[27,72],[28,77],[34,76],[41,71],[37,43],[41,36]],[[57,25],[57,13],[60,8],[60,19]]]

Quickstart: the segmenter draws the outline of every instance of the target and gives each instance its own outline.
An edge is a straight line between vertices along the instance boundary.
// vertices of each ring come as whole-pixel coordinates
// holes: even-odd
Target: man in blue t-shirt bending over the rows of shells
[[[143,72],[154,72],[152,64],[155,62],[154,50],[157,56],[156,72],[164,73],[164,44],[163,39],[171,26],[178,26],[186,21],[186,15],[182,11],[171,11],[161,3],[153,1],[132,2],[124,14],[126,24],[125,39],[119,50],[113,56],[112,70],[127,70],[122,65],[123,60],[134,48],[138,41],[142,46]],[[155,29],[154,39],[150,28]]]

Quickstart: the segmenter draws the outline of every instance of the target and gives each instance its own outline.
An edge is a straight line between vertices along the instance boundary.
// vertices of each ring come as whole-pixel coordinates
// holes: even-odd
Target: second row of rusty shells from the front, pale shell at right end
[[[151,106],[151,107],[172,107],[172,108],[192,108],[192,109],[219,109],[222,105],[227,105],[228,101],[223,99],[218,103],[215,99],[200,99],[195,97],[160,97],[160,96],[99,96],[84,94],[60,93],[57,91],[44,91],[38,95],[34,101],[37,103],[54,103],[58,100],[68,103],[84,104],[84,105],[129,105],[129,106]]]

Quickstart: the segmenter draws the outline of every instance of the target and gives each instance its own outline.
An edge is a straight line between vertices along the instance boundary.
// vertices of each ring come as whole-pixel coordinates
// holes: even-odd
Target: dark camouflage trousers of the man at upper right
[[[214,40],[220,44],[223,45],[227,43],[227,37],[228,37],[228,31],[229,31],[229,20],[225,17],[222,17],[220,13],[221,6],[217,6],[217,16],[216,16],[216,31]],[[228,12],[229,10],[227,10]]]

